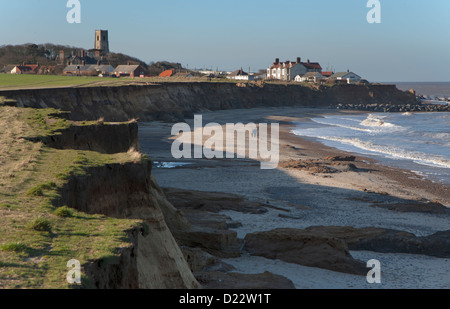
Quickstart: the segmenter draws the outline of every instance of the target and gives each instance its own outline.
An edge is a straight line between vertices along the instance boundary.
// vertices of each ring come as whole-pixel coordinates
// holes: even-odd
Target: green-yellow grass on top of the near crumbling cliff
[[[139,220],[56,207],[59,189],[86,168],[141,160],[135,152],[58,150],[24,137],[72,124],[52,109],[0,106],[0,288],[67,288],[66,264],[117,259]],[[83,277],[89,287],[89,279]]]

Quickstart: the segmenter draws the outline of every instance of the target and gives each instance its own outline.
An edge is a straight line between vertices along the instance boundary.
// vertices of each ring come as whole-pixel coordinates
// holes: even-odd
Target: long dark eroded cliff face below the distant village
[[[70,111],[73,120],[182,120],[205,110],[264,106],[415,104],[395,85],[336,85],[314,89],[288,84],[164,83],[146,86],[2,91],[19,107]]]

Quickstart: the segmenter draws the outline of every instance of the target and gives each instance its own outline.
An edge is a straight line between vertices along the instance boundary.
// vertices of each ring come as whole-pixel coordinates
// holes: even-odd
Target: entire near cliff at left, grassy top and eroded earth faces
[[[0,106],[0,287],[199,288],[168,227],[190,225],[136,150],[136,122],[58,115]]]

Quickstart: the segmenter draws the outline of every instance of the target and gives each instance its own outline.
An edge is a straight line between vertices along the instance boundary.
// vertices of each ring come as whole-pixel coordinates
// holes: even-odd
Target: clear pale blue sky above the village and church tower
[[[90,49],[107,29],[113,52],[145,62],[256,71],[300,56],[370,81],[450,81],[449,0],[380,0],[381,24],[367,22],[367,0],[80,2],[69,24],[67,0],[1,0],[0,45]]]

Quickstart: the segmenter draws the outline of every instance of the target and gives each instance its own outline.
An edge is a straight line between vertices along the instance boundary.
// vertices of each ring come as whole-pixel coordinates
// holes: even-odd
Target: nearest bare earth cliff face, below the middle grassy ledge
[[[174,231],[188,229],[189,224],[160,192],[148,160],[88,168],[86,174],[72,176],[61,190],[61,205],[143,222],[142,228],[128,232],[132,246],[121,249],[119,260],[86,266],[96,287],[199,287],[165,218]]]

